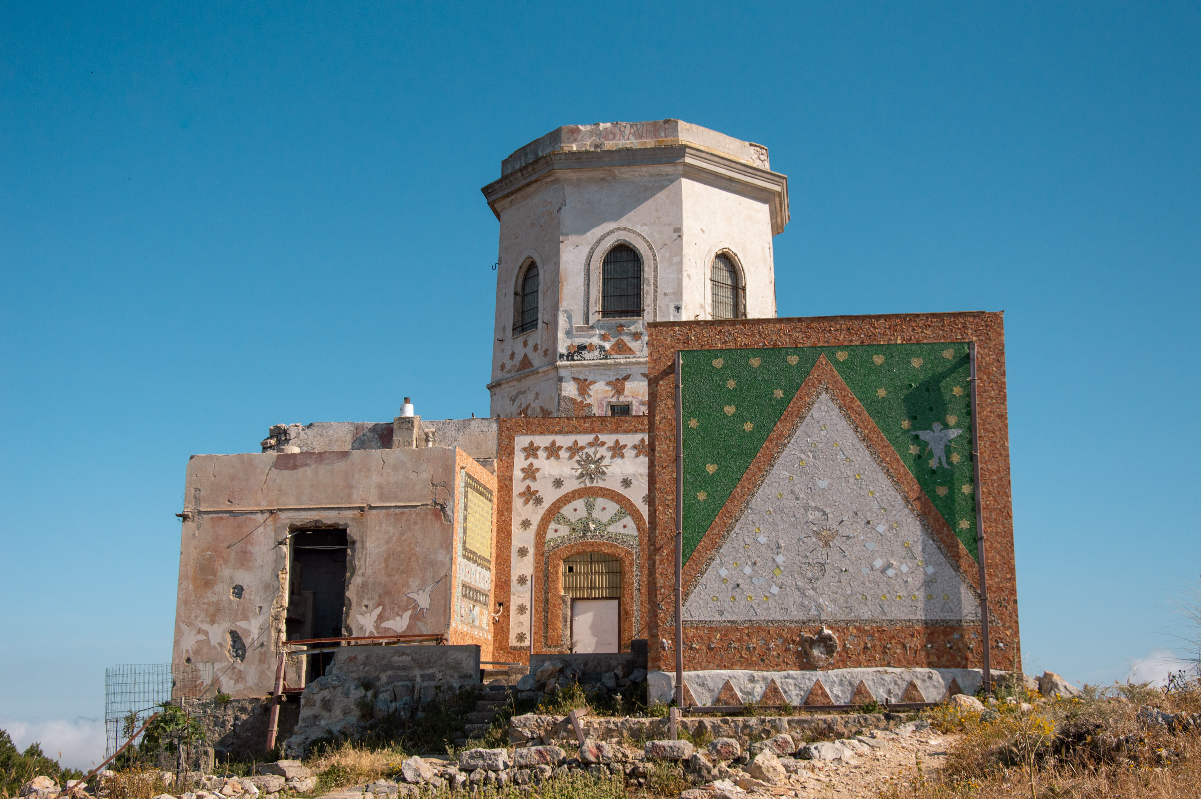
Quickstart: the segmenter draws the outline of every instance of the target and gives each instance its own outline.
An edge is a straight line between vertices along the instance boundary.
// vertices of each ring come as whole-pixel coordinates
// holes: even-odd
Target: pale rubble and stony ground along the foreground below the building
[[[1040,687],[1044,697],[1039,703],[1075,691],[1066,684]],[[998,700],[988,702],[997,705]],[[1016,699],[1008,702],[1015,705],[1011,712],[1027,714],[1033,709]],[[986,708],[974,697],[957,694],[950,703],[973,714],[997,716],[996,709]],[[1184,723],[1176,715],[1145,710],[1139,716],[1143,726],[1201,726],[1201,714],[1195,714],[1196,718],[1189,715]],[[1158,716],[1153,718],[1152,712]],[[663,740],[667,729],[662,718],[586,720],[526,714],[509,720],[513,749],[468,749],[454,758],[410,757],[399,769],[390,767],[388,773],[395,779],[378,779],[325,797],[401,799],[446,791],[473,795],[504,788],[537,795],[539,783],[570,774],[620,780],[617,785],[634,795],[656,793],[682,799],[749,799],[752,794],[878,797],[897,783],[903,787],[930,780],[945,763],[952,737],[938,734],[928,721],[909,718],[904,721],[898,714],[886,712],[681,720],[686,738],[705,741],[704,746],[694,746],[686,739]],[[655,733],[658,739],[633,744]],[[582,741],[576,744],[575,737],[582,737]],[[180,786],[154,799],[277,799],[311,794],[317,785],[316,775],[299,761],[261,763],[257,770],[250,777],[190,774],[186,789]],[[119,781],[121,775],[102,771],[97,776],[95,786],[101,799],[123,795],[106,788],[109,780]],[[169,791],[174,775],[153,771],[135,779],[159,780]],[[676,788],[665,789],[668,785]],[[60,788],[48,777],[37,777],[25,786],[22,797],[85,799],[89,795],[85,789],[83,785]]]

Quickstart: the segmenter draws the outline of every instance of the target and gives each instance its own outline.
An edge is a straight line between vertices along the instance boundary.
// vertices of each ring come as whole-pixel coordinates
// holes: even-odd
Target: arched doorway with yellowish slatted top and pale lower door
[[[621,560],[599,551],[563,559],[563,594],[570,597],[573,652],[621,649]]]

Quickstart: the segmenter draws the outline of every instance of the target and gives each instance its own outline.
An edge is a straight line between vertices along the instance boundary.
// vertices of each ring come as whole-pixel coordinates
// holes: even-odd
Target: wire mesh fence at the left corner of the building
[[[115,753],[163,703],[211,699],[207,696],[211,691],[213,663],[125,663],[104,669],[104,756]]]

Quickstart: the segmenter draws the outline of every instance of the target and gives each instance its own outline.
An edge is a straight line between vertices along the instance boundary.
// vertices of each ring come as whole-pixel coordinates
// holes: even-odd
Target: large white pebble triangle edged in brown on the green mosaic
[[[694,621],[979,619],[975,594],[821,393],[685,603]]]

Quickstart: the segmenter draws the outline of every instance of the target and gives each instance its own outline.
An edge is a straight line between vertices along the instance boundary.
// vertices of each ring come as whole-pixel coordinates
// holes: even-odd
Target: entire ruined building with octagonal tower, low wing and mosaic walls
[[[492,418],[406,404],[192,458],[177,663],[235,697],[285,639],[522,663],[645,640],[673,668],[676,352],[691,697],[709,669],[978,667],[981,521],[992,663],[1020,662],[999,314],[775,318],[787,178],[680,120],[560,127],[483,192]]]

